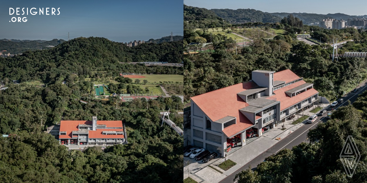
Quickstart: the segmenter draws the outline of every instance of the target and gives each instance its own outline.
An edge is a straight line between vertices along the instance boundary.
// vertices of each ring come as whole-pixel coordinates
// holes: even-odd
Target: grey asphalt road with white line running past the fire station
[[[359,91],[357,93],[350,93],[348,94],[348,96],[344,97],[344,102],[342,104],[337,105],[337,108],[339,108],[340,106],[348,105],[348,100],[351,103],[353,103],[358,97],[358,94],[362,93],[367,89],[366,86],[367,86],[366,81],[364,81],[363,84],[360,85]],[[336,110],[337,108],[335,108],[334,110]],[[330,112],[331,108],[328,108],[327,111]],[[297,130],[292,132],[292,134],[288,135],[286,138],[276,143],[274,146],[270,147],[264,153],[260,154],[259,156],[248,162],[246,165],[244,165],[243,167],[241,167],[240,169],[238,169],[237,171],[235,171],[234,173],[223,179],[220,183],[233,183],[233,179],[235,178],[236,174],[239,173],[242,169],[247,169],[249,165],[251,165],[252,169],[255,169],[259,163],[265,160],[266,157],[275,154],[285,148],[292,149],[293,146],[296,146],[301,142],[305,142],[308,131],[310,129],[315,128],[318,123],[325,122],[326,115],[327,113],[323,116],[319,116],[318,117],[319,121],[317,121],[316,123],[308,123],[302,127],[299,127]],[[237,182],[237,180],[235,182]]]

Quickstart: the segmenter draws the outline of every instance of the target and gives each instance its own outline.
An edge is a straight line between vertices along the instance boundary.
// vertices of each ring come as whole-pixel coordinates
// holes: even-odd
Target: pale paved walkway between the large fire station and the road
[[[327,108],[329,104],[322,104],[319,105],[319,107]],[[316,107],[316,106],[315,106]],[[303,112],[304,115],[311,116],[315,113],[310,113],[315,107],[306,109],[306,111]],[[316,112],[318,113],[318,112]],[[300,115],[296,115],[294,119],[297,120],[299,117],[301,117],[302,113]],[[295,121],[294,120],[294,121]],[[190,178],[194,179],[198,183],[217,183],[221,180],[225,179],[226,176],[231,175],[233,172],[235,172],[237,169],[241,168],[243,165],[246,165],[248,162],[253,160],[255,157],[259,156],[261,153],[265,152],[267,149],[275,145],[279,140],[287,137],[289,134],[291,134],[293,131],[297,130],[299,127],[303,126],[305,124],[304,122],[298,123],[298,124],[292,124],[293,119],[286,120],[281,124],[278,124],[277,127],[273,129],[269,129],[268,131],[265,131],[260,137],[256,137],[255,140],[256,144],[261,145],[251,145],[250,142],[246,142],[246,145],[243,147],[235,147],[232,151],[227,153],[227,160],[232,160],[235,163],[237,163],[232,168],[228,169],[227,171],[223,171],[220,169],[217,165],[222,163],[224,161],[224,158],[216,158],[215,160],[212,160],[208,163],[203,162],[196,162],[191,163],[189,166],[185,166],[183,169],[183,179],[186,179],[188,177],[188,169],[190,172]],[[283,126],[285,127],[284,130],[282,130]],[[279,139],[279,140],[277,140]],[[249,145],[250,143],[250,145]],[[218,169],[218,171],[215,171],[214,169],[208,167],[208,165],[211,165],[215,169]]]

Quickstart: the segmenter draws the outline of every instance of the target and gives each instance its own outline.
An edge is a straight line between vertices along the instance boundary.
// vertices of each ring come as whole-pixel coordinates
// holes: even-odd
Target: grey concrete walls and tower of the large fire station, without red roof
[[[246,102],[246,104],[248,104],[246,105],[246,107],[238,109],[238,112],[252,123],[252,125],[249,125],[247,128],[237,130],[235,134],[226,135],[224,130],[234,124],[240,123],[237,117],[230,115],[226,116],[226,114],[223,114],[223,116],[225,117],[213,121],[212,119],[210,119],[210,117],[208,117],[205,112],[203,112],[203,110],[200,108],[200,104],[196,104],[196,102],[192,99],[190,117],[191,128],[190,135],[188,135],[190,136],[190,141],[188,141],[190,142],[190,144],[188,145],[198,146],[200,148],[207,149],[210,152],[217,152],[220,156],[224,157],[225,149],[228,146],[227,139],[235,136],[240,137],[241,142],[238,144],[244,146],[246,145],[247,130],[251,128],[254,128],[255,130],[258,129],[258,135],[261,136],[261,128],[265,126],[270,126],[270,128],[274,128],[281,122],[281,120],[285,120],[286,117],[294,114],[298,109],[304,108],[317,101],[318,92],[313,89],[313,84],[298,84],[299,86],[296,86],[296,84],[294,84],[297,82],[304,82],[303,78],[298,78],[295,81],[290,82],[277,81],[277,88],[273,87],[274,73],[274,71],[252,71],[252,82],[256,83],[256,85],[258,86],[247,89],[240,93],[227,93],[228,95],[237,95],[237,100],[243,100],[242,102]],[[292,87],[293,85],[294,87]],[[266,89],[265,91],[262,89],[259,90],[259,87],[264,87]],[[287,87],[287,89],[295,88],[294,91],[287,90],[292,92],[291,97],[288,98],[296,98],[297,95],[310,89],[316,91],[316,94],[301,98],[300,101],[295,101],[294,103],[291,103],[290,106],[287,106],[285,109],[281,109],[281,102],[284,102],[285,100],[277,100],[277,98],[273,98],[271,96],[275,96],[274,91],[283,87]],[[252,95],[251,92],[254,92],[254,95]],[[299,100],[299,97],[297,97],[297,100]],[[202,107],[205,108],[205,106]],[[221,108],[221,106],[218,106],[218,108]]]

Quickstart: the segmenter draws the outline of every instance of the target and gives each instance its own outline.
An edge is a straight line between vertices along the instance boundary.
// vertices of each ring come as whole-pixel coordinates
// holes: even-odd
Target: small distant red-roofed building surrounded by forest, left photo
[[[62,145],[115,145],[126,142],[122,121],[61,121],[59,141]]]

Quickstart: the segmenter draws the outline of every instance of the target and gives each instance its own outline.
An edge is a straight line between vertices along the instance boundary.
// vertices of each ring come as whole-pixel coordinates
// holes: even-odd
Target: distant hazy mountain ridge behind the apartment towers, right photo
[[[222,19],[225,19],[226,21],[231,21],[231,23],[246,23],[246,22],[275,23],[280,22],[280,20],[283,17],[288,16],[289,14],[298,17],[304,22],[304,24],[320,22],[321,19],[326,18],[347,20],[349,18],[367,17],[367,15],[357,16],[357,15],[346,15],[342,13],[326,14],[326,15],[312,14],[312,13],[287,13],[287,12],[268,13],[254,9],[237,9],[237,10],[211,9],[209,11],[214,12],[216,15],[218,15]]]

